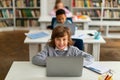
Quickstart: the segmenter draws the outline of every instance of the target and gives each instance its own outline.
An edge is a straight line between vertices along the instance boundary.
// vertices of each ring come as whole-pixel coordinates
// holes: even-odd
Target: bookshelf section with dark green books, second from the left
[[[40,0],[15,0],[15,26],[39,27]]]

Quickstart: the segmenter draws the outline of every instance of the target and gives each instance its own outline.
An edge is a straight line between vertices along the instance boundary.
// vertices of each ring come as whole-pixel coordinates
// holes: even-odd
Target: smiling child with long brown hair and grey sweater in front
[[[32,58],[32,63],[45,66],[46,58],[49,56],[83,56],[84,65],[94,61],[93,56],[73,46],[70,29],[64,26],[57,26],[53,29],[50,41],[41,52]]]

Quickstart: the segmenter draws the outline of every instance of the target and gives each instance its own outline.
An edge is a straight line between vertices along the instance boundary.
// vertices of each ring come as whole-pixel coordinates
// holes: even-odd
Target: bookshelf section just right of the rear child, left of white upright
[[[71,0],[74,15],[88,15],[92,20],[101,19],[101,0]]]

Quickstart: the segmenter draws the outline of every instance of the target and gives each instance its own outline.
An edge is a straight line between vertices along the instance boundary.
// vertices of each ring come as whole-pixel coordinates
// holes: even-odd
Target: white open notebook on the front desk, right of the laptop
[[[110,70],[109,68],[107,68],[103,65],[100,65],[99,63],[92,63],[92,64],[84,66],[84,67],[91,70],[91,71],[94,71],[98,74],[103,74],[103,73],[106,73]]]

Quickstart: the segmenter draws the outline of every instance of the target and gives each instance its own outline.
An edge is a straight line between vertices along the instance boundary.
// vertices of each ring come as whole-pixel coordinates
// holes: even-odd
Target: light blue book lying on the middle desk
[[[27,34],[27,37],[31,38],[31,39],[37,39],[37,38],[43,38],[48,36],[49,34],[45,33],[45,32],[37,32],[37,33],[30,33]]]

